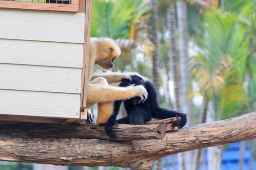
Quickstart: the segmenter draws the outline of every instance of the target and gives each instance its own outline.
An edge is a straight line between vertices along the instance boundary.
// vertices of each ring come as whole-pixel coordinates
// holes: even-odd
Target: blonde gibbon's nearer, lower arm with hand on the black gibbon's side
[[[88,85],[88,102],[113,102],[131,99],[136,96],[140,97],[143,101],[147,99],[148,93],[143,85],[131,85],[128,87],[93,84]]]

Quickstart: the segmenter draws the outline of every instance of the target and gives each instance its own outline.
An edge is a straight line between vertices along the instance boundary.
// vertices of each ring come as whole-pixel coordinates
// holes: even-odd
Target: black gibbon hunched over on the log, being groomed
[[[173,117],[180,117],[181,121],[178,128],[185,126],[187,122],[187,115],[179,113],[177,111],[172,111],[166,108],[160,107],[157,100],[157,91],[155,86],[150,81],[144,81],[139,76],[131,76],[131,79],[123,79],[118,85],[125,87],[128,85],[143,85],[147,92],[148,98],[144,102],[139,102],[140,98],[134,97],[129,100],[124,100],[124,108],[127,112],[127,116],[117,120],[117,115],[120,109],[122,101],[116,101],[114,103],[113,115],[108,119],[105,124],[105,130],[108,136],[116,138],[116,134],[113,132],[113,125],[115,124],[145,124],[145,122],[150,121],[152,118],[155,119],[167,119]]]

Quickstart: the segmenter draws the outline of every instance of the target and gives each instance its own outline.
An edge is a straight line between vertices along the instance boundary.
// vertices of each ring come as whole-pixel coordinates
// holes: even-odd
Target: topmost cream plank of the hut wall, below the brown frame
[[[0,38],[84,43],[84,15],[0,8]]]

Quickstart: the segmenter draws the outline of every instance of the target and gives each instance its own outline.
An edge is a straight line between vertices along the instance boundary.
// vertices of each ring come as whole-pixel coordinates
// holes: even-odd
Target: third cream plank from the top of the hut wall
[[[0,64],[0,89],[80,94],[81,68]]]

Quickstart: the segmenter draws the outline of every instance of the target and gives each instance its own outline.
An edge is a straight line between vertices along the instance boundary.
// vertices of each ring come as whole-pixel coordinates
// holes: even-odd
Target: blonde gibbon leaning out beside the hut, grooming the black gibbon
[[[93,73],[95,65],[103,69],[111,69],[114,60],[121,54],[120,48],[111,38],[91,38],[89,56],[89,83],[87,92],[87,108],[98,103],[98,117],[96,124],[104,124],[113,114],[113,104],[117,100],[127,100],[140,97],[141,101],[147,99],[147,90],[143,85],[118,87],[111,84],[120,83],[123,79],[138,73]]]

